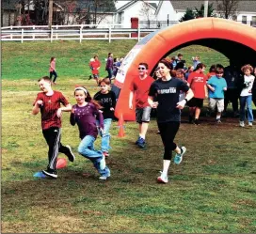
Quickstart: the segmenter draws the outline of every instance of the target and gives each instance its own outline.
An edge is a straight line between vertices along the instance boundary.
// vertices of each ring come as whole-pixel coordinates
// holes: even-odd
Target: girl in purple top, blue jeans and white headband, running
[[[97,101],[91,99],[88,90],[83,86],[78,86],[74,89],[74,98],[77,104],[72,106],[70,121],[72,126],[75,123],[78,125],[81,138],[78,152],[92,162],[101,175],[99,179],[105,180],[110,177],[110,170],[105,165],[103,152],[94,149],[94,141],[98,134],[96,117],[100,121],[100,131],[104,132],[104,118],[99,111],[101,106]]]

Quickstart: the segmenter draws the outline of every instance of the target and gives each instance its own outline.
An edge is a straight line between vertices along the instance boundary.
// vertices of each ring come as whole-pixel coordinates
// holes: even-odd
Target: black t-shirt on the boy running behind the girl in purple
[[[94,95],[94,100],[99,101],[100,104],[104,107],[101,110],[103,111],[104,119],[105,118],[114,118],[114,111],[110,111],[110,108],[116,107],[116,94],[113,91],[109,91],[104,94],[101,91],[97,92]]]

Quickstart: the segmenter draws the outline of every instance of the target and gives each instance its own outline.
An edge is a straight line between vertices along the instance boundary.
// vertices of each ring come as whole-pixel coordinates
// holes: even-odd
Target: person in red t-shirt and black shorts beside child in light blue
[[[187,85],[190,86],[194,93],[194,98],[190,101],[187,101],[187,105],[189,106],[189,122],[193,122],[194,124],[199,125],[199,117],[200,117],[200,109],[203,106],[204,98],[208,96],[208,90],[206,86],[207,77],[203,73],[206,66],[202,63],[197,65],[197,68],[191,72],[187,78]]]

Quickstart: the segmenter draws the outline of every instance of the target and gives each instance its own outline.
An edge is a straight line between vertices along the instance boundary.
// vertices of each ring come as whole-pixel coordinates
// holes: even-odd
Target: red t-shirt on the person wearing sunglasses
[[[151,76],[147,76],[144,80],[141,80],[139,76],[136,76],[136,78],[132,81],[130,90],[135,93],[136,108],[150,106],[148,102],[148,94],[152,82],[154,82],[154,79]]]

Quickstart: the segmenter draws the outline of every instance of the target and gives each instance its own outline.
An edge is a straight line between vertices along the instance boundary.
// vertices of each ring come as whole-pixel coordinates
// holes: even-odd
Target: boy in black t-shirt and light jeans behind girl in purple
[[[97,92],[93,99],[99,101],[103,108],[104,116],[104,134],[102,134],[102,150],[105,157],[109,156],[108,150],[110,149],[110,133],[109,129],[114,118],[114,111],[116,107],[116,94],[110,90],[110,80],[109,78],[104,78],[99,80],[99,86],[101,91]]]

